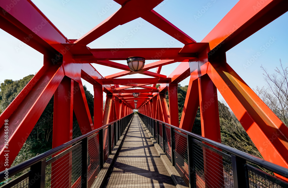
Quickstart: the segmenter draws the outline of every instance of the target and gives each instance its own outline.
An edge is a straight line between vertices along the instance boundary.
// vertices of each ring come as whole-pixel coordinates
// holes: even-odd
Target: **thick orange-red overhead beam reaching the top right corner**
[[[240,0],[201,42],[226,52],[287,10],[286,0]]]

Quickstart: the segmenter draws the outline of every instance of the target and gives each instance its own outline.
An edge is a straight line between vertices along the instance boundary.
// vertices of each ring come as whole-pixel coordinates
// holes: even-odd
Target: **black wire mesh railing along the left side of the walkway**
[[[133,114],[0,172],[2,188],[92,187]],[[121,123],[119,123],[121,122]],[[49,160],[47,160],[49,159]],[[18,176],[19,173],[22,175]],[[11,180],[10,176],[18,176]]]

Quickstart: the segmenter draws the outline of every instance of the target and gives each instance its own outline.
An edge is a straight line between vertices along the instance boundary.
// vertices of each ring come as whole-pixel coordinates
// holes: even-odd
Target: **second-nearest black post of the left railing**
[[[81,187],[88,187],[88,137],[82,139],[82,175],[81,175]]]

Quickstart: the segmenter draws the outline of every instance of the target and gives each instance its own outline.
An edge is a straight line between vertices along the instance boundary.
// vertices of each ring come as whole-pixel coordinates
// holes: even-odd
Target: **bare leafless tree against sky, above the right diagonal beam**
[[[256,87],[256,94],[288,126],[288,67],[283,67],[280,59],[280,67],[276,67],[274,73],[261,66],[266,86]]]

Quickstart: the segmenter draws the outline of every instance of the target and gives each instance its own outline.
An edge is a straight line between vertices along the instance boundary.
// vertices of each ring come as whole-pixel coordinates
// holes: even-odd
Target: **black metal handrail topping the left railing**
[[[126,115],[126,116],[124,116],[124,117],[122,117],[120,119],[123,119],[123,118],[125,118],[125,117],[127,117],[127,116],[129,116],[131,114],[128,114],[128,115]],[[120,119],[117,119],[116,121],[113,121],[113,122],[111,122],[109,124],[106,124],[106,125],[98,128],[98,129],[92,130],[91,132],[88,132],[88,133],[86,133],[86,134],[84,134],[82,136],[79,136],[78,138],[75,138],[75,139],[73,139],[73,140],[71,140],[71,141],[69,141],[67,143],[64,143],[64,144],[62,144],[60,146],[57,146],[57,147],[55,147],[53,149],[50,149],[49,151],[46,151],[46,152],[44,152],[44,153],[42,153],[40,155],[37,155],[37,156],[35,156],[35,157],[31,158],[31,159],[28,159],[25,162],[22,162],[20,164],[12,166],[11,168],[9,168],[9,176],[13,176],[13,175],[21,172],[22,170],[25,170],[26,168],[29,168],[30,166],[32,166],[32,165],[34,165],[34,164],[36,164],[36,163],[38,163],[38,162],[50,157],[51,155],[54,155],[54,154],[58,153],[59,151],[62,151],[63,149],[67,149],[67,147],[79,142],[80,140],[83,140],[83,138],[89,137],[89,136],[97,133],[99,130],[104,129],[104,128],[106,128],[107,126],[109,126],[111,124],[114,124],[115,122],[119,121]],[[5,170],[0,172],[0,180],[4,179],[4,177],[5,177],[4,172],[5,172]]]

